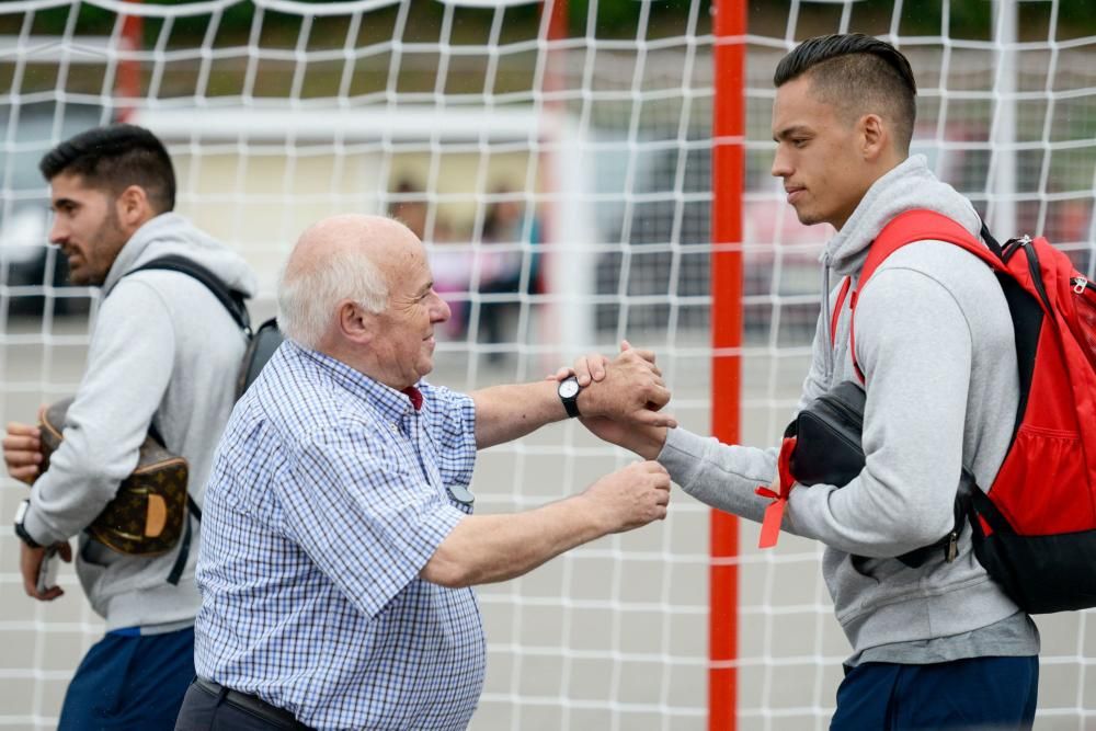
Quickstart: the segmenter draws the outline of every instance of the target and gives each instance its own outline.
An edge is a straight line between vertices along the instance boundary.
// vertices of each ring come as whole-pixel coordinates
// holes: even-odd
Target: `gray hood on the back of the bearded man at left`
[[[134,232],[106,274],[103,295],[128,272],[167,254],[185,256],[216,274],[230,289],[247,297],[255,295],[255,275],[243,258],[175,213],[160,214]]]

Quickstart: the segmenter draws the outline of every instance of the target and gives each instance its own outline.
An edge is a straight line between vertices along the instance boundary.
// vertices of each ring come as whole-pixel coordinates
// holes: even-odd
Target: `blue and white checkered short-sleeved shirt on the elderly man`
[[[419,572],[470,513],[472,400],[404,393],[286,342],[206,486],[198,675],[317,729],[464,729],[483,686],[470,589]],[[447,487],[448,486],[448,487]]]

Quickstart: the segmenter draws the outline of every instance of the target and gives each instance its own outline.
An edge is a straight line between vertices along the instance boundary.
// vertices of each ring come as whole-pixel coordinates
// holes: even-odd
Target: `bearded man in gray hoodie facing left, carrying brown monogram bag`
[[[3,441],[9,473],[33,483],[16,518],[23,584],[38,601],[60,596],[56,586],[39,591],[38,569],[47,547],[71,560],[68,540],[79,536],[77,573],[106,619],[106,637],[69,685],[61,729],[171,729],[194,676],[198,524],[191,521],[185,562],[182,540],[149,558],[116,552],[82,530],[137,465],[150,427],[186,458],[190,494],[201,504],[246,338],[197,279],[162,270],[127,274],[176,254],[246,296],[255,277],[238,254],[172,213],[171,159],[148,130],[92,129],[56,147],[39,167],[52,187],[50,241],[68,258],[71,281],[100,285],[103,301],[48,469],[39,475],[36,427],[11,423]],[[172,583],[176,561],[183,571]]]

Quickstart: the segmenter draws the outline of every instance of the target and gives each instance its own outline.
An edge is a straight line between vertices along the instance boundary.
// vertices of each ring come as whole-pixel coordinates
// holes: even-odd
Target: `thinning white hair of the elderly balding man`
[[[388,306],[384,273],[361,250],[335,247],[306,266],[283,265],[277,288],[277,325],[286,338],[315,350],[331,327],[335,308],[352,299],[369,312]]]

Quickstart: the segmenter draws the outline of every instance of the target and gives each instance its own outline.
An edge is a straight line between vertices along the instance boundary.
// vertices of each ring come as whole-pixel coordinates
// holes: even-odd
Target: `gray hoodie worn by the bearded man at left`
[[[251,295],[247,263],[178,214],[141,226],[118,253],[103,284],[88,368],[69,408],[65,439],[34,483],[24,526],[38,542],[80,535],[77,573],[107,630],[146,633],[193,623],[197,532],[178,586],[167,583],[179,547],[163,556],[117,553],[81,530],[102,511],[137,464],[149,424],[168,449],[190,462],[190,492],[201,504],[213,453],[235,401],[246,339],[214,295],[178,272],[123,275],[164,254],[181,254]]]

